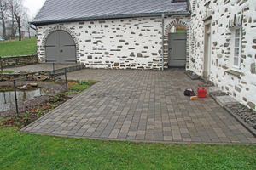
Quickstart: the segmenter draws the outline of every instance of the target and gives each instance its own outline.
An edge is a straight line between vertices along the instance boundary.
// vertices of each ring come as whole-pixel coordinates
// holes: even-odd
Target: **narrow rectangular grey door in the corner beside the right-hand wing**
[[[184,67],[187,54],[187,33],[169,33],[168,66]]]

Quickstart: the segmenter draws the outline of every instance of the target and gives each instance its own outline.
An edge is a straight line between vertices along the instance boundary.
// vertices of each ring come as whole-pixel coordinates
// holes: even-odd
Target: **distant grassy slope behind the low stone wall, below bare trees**
[[[37,38],[0,42],[0,56],[18,56],[37,53]]]

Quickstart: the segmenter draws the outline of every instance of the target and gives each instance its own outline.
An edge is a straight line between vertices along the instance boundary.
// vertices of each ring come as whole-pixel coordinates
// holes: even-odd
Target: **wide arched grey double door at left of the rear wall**
[[[66,31],[52,32],[45,44],[45,62],[76,63],[76,46]]]

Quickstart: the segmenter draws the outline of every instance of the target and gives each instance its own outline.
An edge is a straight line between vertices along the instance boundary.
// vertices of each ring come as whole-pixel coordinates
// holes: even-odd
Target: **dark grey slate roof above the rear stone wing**
[[[186,2],[172,0],[46,0],[32,24],[189,14]]]

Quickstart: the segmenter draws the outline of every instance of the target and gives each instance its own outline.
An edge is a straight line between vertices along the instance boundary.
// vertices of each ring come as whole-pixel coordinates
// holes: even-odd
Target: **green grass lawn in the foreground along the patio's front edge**
[[[61,138],[0,128],[0,169],[255,169],[256,145]]]

